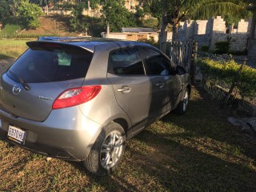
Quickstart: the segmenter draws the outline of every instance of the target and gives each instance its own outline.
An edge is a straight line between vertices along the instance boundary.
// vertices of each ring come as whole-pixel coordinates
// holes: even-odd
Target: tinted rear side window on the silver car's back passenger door
[[[110,53],[109,61],[114,74],[145,74],[142,59],[136,48],[115,50]]]

